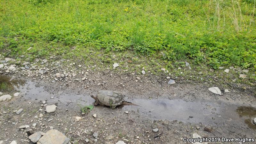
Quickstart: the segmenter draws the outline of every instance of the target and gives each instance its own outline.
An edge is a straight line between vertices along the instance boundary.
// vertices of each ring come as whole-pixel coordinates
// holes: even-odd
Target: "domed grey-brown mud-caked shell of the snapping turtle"
[[[121,105],[124,101],[124,95],[114,91],[99,91],[97,94],[98,101],[109,107],[116,107]]]

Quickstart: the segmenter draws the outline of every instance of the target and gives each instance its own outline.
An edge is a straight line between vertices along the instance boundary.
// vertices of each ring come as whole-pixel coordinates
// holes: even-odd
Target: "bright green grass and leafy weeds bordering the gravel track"
[[[212,68],[256,68],[255,0],[2,0],[0,5],[0,52],[10,57],[61,55],[87,62],[100,52],[100,62],[112,63],[109,53],[130,52],[166,67],[190,59]]]

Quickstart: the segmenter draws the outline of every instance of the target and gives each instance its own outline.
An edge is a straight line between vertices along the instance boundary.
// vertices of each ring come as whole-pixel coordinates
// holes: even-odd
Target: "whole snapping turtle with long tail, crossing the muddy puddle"
[[[109,106],[111,108],[116,108],[119,105],[134,105],[139,106],[127,101],[124,101],[124,95],[119,92],[114,91],[99,91],[97,96],[94,97],[91,95],[93,99],[95,99],[94,106]]]

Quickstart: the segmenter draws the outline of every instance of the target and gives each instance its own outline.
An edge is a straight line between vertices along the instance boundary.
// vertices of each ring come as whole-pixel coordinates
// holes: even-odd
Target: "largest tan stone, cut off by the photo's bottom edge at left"
[[[51,129],[38,140],[37,144],[68,144],[69,141],[70,139],[60,131]]]

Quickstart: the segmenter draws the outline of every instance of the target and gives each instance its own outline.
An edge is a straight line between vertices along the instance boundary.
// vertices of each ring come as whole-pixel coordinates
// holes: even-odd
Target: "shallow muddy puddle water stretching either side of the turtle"
[[[47,103],[57,104],[58,108],[67,106],[79,108],[79,106],[90,105],[94,102],[94,99],[88,93],[79,94],[78,92],[60,91],[58,89],[53,89],[49,92],[44,90],[44,86],[37,86],[35,82],[19,81],[13,77],[3,75],[0,75],[1,81],[12,86],[16,92],[20,91],[26,100],[47,100]],[[51,97],[54,97],[54,99],[51,99]],[[256,108],[253,107],[169,99],[132,99],[127,101],[138,104],[141,107],[120,106],[118,108],[134,110],[138,114],[154,120],[180,120],[185,123],[211,125],[229,124],[256,129],[256,125],[252,124],[252,119],[256,116]]]

